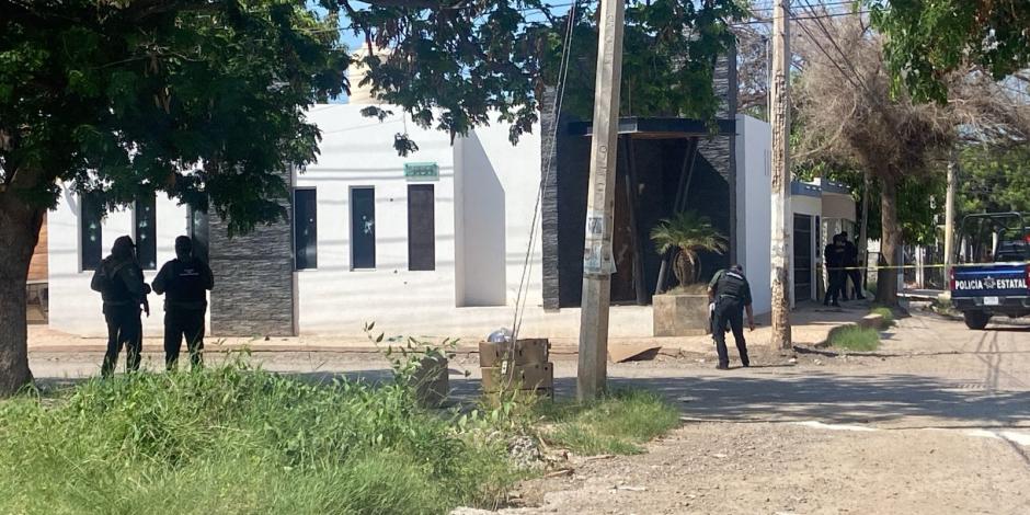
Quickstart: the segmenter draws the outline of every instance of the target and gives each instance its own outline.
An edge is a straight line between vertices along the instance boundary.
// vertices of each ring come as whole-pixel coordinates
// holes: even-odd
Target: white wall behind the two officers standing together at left
[[[158,267],[175,258],[175,237],[186,233],[186,208],[169,201],[163,194],[157,198]],[[79,198],[67,188],[57,208],[47,217],[49,229],[49,325],[52,329],[81,336],[106,336],[101,311],[100,294],[90,289],[93,272],[81,270],[79,248]],[[110,213],[103,222],[103,255],[111,252],[119,236],[131,236],[133,210]],[[144,271],[147,282],[157,271]],[[150,318],[144,317],[144,332],[148,336],[162,334],[162,297],[150,296]]]

